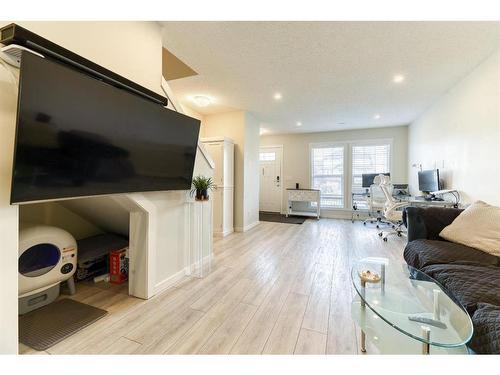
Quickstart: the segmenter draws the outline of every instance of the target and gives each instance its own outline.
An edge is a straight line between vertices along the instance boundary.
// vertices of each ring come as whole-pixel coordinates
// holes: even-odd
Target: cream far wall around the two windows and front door
[[[393,150],[391,179],[394,183],[406,183],[408,178],[407,126],[261,136],[261,146],[283,145],[283,210],[285,210],[285,207],[287,206],[285,189],[295,188],[296,182],[298,182],[303,188],[310,188],[311,176],[309,174],[309,145],[311,143],[349,142],[376,139],[392,139]],[[326,216],[327,212],[324,211],[322,215]]]

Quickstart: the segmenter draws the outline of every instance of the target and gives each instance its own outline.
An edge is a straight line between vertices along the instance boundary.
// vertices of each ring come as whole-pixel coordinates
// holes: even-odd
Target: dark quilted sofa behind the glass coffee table
[[[500,354],[500,258],[448,242],[441,230],[462,212],[455,208],[408,207],[406,262],[446,288],[469,312],[476,353]]]

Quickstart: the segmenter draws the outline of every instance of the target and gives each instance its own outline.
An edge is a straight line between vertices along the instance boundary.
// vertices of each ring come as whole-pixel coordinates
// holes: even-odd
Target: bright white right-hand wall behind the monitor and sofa
[[[409,127],[409,171],[439,168],[462,201],[500,205],[500,50],[480,64]]]

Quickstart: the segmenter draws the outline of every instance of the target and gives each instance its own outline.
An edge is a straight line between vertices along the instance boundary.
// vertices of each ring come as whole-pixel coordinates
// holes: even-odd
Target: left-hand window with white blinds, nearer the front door
[[[311,186],[321,190],[321,207],[344,207],[344,146],[311,148]]]

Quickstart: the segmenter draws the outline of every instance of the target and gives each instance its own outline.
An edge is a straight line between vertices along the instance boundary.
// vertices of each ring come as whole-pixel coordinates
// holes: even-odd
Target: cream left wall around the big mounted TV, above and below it
[[[160,27],[154,22],[20,22],[20,25],[48,38],[150,90],[161,90]],[[3,25],[2,25],[3,26]],[[10,76],[0,67],[0,353],[17,352],[17,225],[18,207],[9,205],[12,155],[15,131],[16,90]],[[182,195],[182,198],[180,196]],[[183,271],[180,262],[181,237],[185,233],[184,193],[145,193],[151,211],[161,220],[154,228],[158,259],[148,259],[152,271],[148,293],[164,287]],[[131,198],[132,199],[132,198]],[[170,202],[167,202],[168,200]],[[175,207],[174,207],[175,206]],[[171,213],[172,216],[168,216]],[[112,213],[110,213],[112,214]],[[168,218],[167,218],[168,216]],[[173,225],[172,223],[178,223]],[[144,239],[145,240],[145,239]],[[175,254],[173,254],[175,252]],[[141,266],[143,266],[141,264]],[[154,271],[154,272],[153,272]]]

